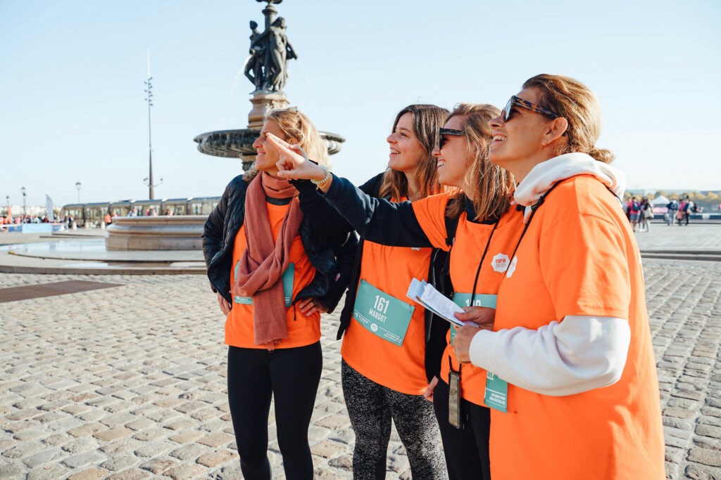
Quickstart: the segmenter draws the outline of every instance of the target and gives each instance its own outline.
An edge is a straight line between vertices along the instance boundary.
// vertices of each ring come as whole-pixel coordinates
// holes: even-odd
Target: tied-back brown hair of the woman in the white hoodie
[[[601,104],[587,86],[575,78],[541,73],[528,78],[523,89],[541,92],[539,105],[568,121],[567,142],[557,151],[588,153],[599,162],[611,163],[616,155],[611,150],[596,148],[601,135]]]

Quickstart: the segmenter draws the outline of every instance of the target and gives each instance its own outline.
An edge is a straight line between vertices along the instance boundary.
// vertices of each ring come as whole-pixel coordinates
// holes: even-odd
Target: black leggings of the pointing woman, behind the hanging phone
[[[443,380],[438,380],[433,390],[433,409],[438,419],[438,427],[441,428],[448,478],[490,480],[490,409],[461,400],[464,428],[457,429],[448,423],[448,384]]]

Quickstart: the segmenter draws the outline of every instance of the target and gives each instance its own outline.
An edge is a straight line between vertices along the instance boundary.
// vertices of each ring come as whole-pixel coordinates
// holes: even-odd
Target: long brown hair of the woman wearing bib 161
[[[438,145],[438,129],[448,116],[448,110],[436,105],[415,104],[402,109],[396,115],[391,132],[396,130],[399,120],[404,114],[410,113],[413,117],[413,135],[423,147],[424,157],[415,169],[415,180],[420,189],[420,197],[439,194],[445,189],[438,184],[438,163],[433,157],[433,148]],[[379,196],[391,196],[395,200],[408,196],[408,180],[405,173],[392,169],[386,170],[381,183]]]

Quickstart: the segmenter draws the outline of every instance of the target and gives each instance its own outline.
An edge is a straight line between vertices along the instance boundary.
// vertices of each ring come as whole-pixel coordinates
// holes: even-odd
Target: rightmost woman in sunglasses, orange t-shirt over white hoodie
[[[492,330],[461,327],[456,351],[508,382],[492,476],[663,479],[640,253],[624,176],[595,146],[598,100],[573,78],[534,76],[491,126],[490,160],[520,182],[526,225]]]

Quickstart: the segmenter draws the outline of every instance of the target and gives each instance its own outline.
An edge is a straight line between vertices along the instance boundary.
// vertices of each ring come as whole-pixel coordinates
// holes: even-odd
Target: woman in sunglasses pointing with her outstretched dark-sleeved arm
[[[324,198],[366,240],[450,250],[452,289],[444,293],[453,294],[454,302],[466,308],[461,320],[481,322],[492,312],[503,267],[508,266],[508,245],[518,238],[523,225],[521,212],[513,209],[504,215],[513,177],[487,160],[492,140],[488,122],[497,114],[498,109],[491,105],[459,104],[440,130],[438,147],[433,150],[438,181],[458,191],[412,203],[391,203],[368,197],[344,178],[332,176],[321,184]],[[278,163],[279,175],[324,178],[324,170],[306,161],[301,149],[291,145],[281,148],[284,159]],[[455,235],[449,231],[451,224],[456,225]],[[401,297],[407,289],[406,280]],[[441,371],[426,395],[433,399],[441,427],[448,474],[451,479],[490,479],[487,375],[482,368],[459,364],[453,351],[453,332],[448,333],[446,342]]]

